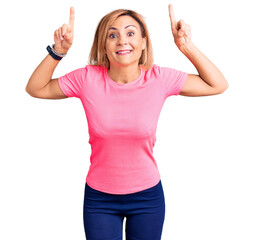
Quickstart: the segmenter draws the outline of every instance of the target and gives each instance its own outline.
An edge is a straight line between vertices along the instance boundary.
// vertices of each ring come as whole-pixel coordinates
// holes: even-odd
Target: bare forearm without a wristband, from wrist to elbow
[[[219,90],[228,87],[228,82],[220,70],[192,42],[179,50],[192,62],[207,84]]]

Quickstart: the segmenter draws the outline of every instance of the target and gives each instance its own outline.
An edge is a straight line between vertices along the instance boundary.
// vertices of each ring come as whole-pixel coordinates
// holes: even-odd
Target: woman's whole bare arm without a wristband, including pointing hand
[[[190,25],[182,19],[176,22],[172,4],[169,4],[168,8],[174,42],[199,73],[199,75],[188,75],[179,94],[183,96],[209,96],[223,93],[229,86],[227,80],[220,70],[191,42]]]

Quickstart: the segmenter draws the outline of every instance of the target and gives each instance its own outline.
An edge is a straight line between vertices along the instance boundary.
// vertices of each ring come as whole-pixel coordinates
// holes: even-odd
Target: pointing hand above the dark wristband
[[[54,41],[55,46],[54,49],[58,53],[65,54],[70,49],[72,42],[73,42],[73,36],[74,36],[74,7],[70,8],[70,18],[68,24],[63,24],[62,27],[57,29],[54,32]]]

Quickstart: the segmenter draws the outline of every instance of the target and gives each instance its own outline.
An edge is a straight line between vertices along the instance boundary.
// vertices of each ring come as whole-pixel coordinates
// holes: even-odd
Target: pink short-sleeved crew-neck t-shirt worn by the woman
[[[153,65],[134,81],[113,81],[106,67],[86,65],[58,79],[68,97],[85,110],[90,167],[87,184],[102,192],[129,194],[160,181],[153,156],[159,114],[167,97],[178,95],[188,73]]]

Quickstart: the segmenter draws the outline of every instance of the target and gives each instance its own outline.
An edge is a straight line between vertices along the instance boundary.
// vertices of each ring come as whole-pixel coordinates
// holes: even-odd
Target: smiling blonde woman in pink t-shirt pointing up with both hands
[[[118,9],[98,24],[89,65],[51,79],[73,42],[74,8],[69,24],[54,34],[55,45],[26,87],[33,97],[80,98],[88,121],[91,165],[86,177],[86,239],[159,240],[165,216],[164,193],[153,157],[159,113],[172,95],[207,96],[224,92],[221,72],[191,42],[190,26],[169,16],[174,41],[199,75],[153,64],[142,16]]]

